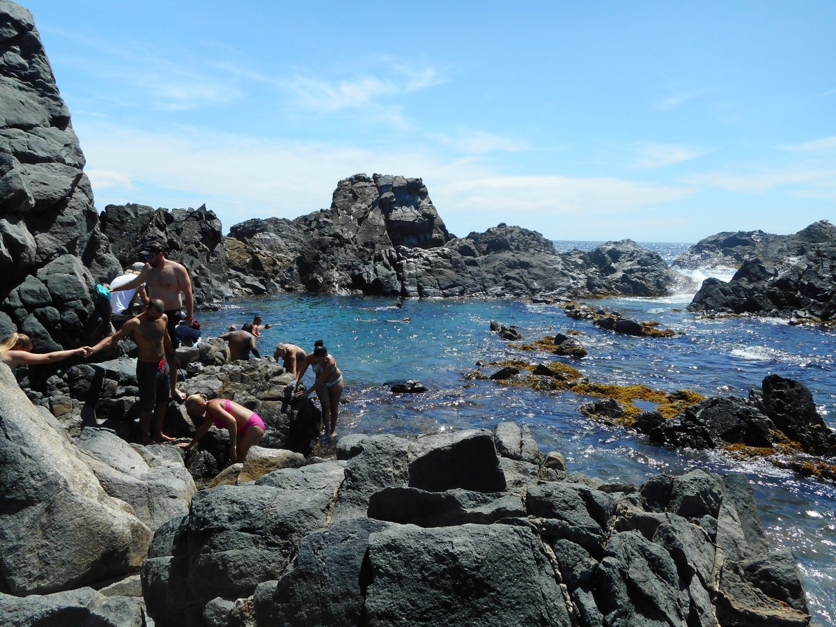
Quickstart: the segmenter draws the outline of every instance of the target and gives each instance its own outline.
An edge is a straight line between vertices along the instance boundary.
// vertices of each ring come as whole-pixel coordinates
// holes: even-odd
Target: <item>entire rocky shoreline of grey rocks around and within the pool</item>
[[[0,336],[28,334],[36,352],[94,340],[94,285],[135,261],[149,239],[186,263],[204,304],[280,290],[660,296],[686,280],[630,240],[558,254],[538,232],[504,223],[455,237],[423,181],[401,176],[351,176],[329,209],[243,222],[228,237],[205,206],[99,214],[33,18],[5,0],[0,45]],[[803,236],[803,253],[790,243],[781,250],[807,260],[793,266],[792,288],[807,298],[793,307],[824,319],[827,286],[809,273],[821,278],[828,268],[832,227],[818,225]],[[823,241],[812,241],[818,232]],[[750,262],[744,268],[756,268]],[[738,283],[751,286],[746,272]],[[769,289],[796,276],[782,272],[758,270]],[[749,287],[731,289],[750,298]],[[604,329],[666,335],[614,312],[566,309]],[[548,341],[583,358],[574,338]],[[319,411],[290,402],[292,375],[273,359],[230,364],[217,339],[183,347],[183,390],[234,398],[267,427],[246,461],[230,466],[228,435],[215,427],[188,455],[131,443],[135,346],[103,356],[30,368],[19,380],[0,364],[2,624],[809,622],[795,559],[769,550],[745,477],[694,471],[640,486],[602,482],[566,469],[557,451],[543,456],[512,422],[414,439],[344,436],[324,450]],[[609,390],[566,364],[528,365],[530,375],[506,364],[493,378]],[[728,402],[755,426],[762,416],[778,426],[775,390],[782,403],[792,397],[809,409],[793,384],[773,383],[760,399]],[[683,429],[710,413],[695,397],[666,400],[672,415],[686,416],[670,425]],[[196,430],[174,402],[169,428],[181,437]],[[785,433],[829,451],[832,434],[813,431]]]

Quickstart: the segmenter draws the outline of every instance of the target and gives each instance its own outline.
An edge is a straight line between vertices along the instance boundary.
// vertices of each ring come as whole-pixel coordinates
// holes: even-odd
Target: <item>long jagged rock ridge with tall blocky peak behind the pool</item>
[[[227,264],[284,289],[404,297],[668,293],[680,278],[630,240],[558,255],[538,232],[502,223],[453,237],[421,179],[339,181],[328,210],[232,227]]]

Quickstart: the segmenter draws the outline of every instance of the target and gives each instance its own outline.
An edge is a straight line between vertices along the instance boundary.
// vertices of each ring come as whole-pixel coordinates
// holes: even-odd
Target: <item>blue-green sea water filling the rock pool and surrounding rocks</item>
[[[556,242],[558,250],[591,248],[598,242]],[[669,261],[686,244],[645,243]],[[730,278],[731,271],[727,276]],[[695,272],[698,281],[705,273]],[[706,468],[744,472],[751,479],[772,547],[791,548],[808,593],[814,624],[836,624],[836,485],[803,479],[767,462],[733,460],[718,451],[672,451],[650,446],[633,433],[585,417],[587,397],[542,394],[462,376],[477,361],[555,359],[521,353],[489,331],[492,319],[517,324],[525,339],[575,329],[589,356],[565,359],[590,380],[641,383],[662,390],[703,395],[747,395],[772,373],[803,381],[828,425],[836,426],[836,330],[791,327],[772,319],[699,320],[685,307],[696,288],[666,298],[612,298],[604,306],[624,315],[658,320],[682,331],[670,339],[644,339],[597,329],[569,319],[553,305],[516,300],[407,300],[394,308],[388,298],[280,294],[228,303],[201,314],[204,336],[260,313],[272,329],[259,340],[263,354],[280,341],[313,349],[324,339],[345,380],[338,431],[400,436],[491,428],[500,421],[531,427],[544,452],[561,451],[571,470],[607,481],[644,482],[659,472]],[[409,316],[411,321],[400,321]],[[486,369],[489,370],[489,369]],[[417,379],[430,388],[419,395],[393,395],[390,380]],[[466,383],[473,383],[465,387]]]

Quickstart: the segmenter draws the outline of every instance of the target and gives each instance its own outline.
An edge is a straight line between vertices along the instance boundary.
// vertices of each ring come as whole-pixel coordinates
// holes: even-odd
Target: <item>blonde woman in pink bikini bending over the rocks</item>
[[[232,463],[243,463],[250,446],[255,446],[264,436],[266,426],[256,412],[228,399],[209,400],[205,394],[193,394],[186,399],[186,411],[196,418],[203,418],[191,442],[177,446],[191,449],[209,431],[213,424],[229,431],[229,458]]]

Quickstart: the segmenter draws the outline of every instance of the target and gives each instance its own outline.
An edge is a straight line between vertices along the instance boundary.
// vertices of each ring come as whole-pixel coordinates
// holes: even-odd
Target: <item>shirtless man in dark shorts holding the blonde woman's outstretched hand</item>
[[[136,354],[136,382],[140,388],[140,441],[150,444],[149,427],[151,414],[154,414],[154,440],[172,441],[173,437],[162,432],[162,423],[166,419],[168,405],[169,368],[166,354],[171,354],[171,339],[166,325],[168,318],[163,314],[165,304],[161,298],[151,298],[145,311],[131,318],[115,334],[96,344],[92,353],[114,346],[129,334],[139,349]]]

